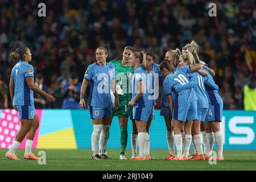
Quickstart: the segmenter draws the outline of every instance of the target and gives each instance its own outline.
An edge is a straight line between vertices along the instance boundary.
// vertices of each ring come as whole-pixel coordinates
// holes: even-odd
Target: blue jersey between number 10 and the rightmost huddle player
[[[208,108],[209,102],[208,102],[207,93],[204,86],[204,82],[206,78],[197,72],[188,73],[188,76],[189,78],[194,77],[197,81],[197,85],[194,88],[196,92],[196,96],[198,98],[197,109]]]

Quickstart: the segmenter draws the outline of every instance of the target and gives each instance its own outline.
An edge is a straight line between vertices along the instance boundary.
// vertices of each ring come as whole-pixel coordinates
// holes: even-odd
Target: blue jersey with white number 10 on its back
[[[190,68],[190,67],[189,67]],[[179,85],[185,85],[189,82],[188,75],[185,73],[187,68],[177,67],[174,72],[169,73],[163,82],[164,92],[172,95],[175,106],[183,106],[189,102],[196,101],[197,96],[193,88],[175,92],[174,88]]]

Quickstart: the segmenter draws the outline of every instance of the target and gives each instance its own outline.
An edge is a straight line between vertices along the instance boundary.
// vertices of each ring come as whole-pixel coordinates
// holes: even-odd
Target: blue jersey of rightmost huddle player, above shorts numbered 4
[[[207,71],[207,69],[203,68],[205,71]],[[215,84],[212,75],[210,75],[210,73],[207,71],[207,79],[208,81],[212,82],[213,84]],[[211,88],[209,88],[209,86],[205,85],[205,89],[207,90],[207,97],[208,97],[208,101],[209,101],[209,106],[211,105],[216,105],[216,104],[220,104],[222,101],[220,94],[218,93],[218,90],[213,90]]]

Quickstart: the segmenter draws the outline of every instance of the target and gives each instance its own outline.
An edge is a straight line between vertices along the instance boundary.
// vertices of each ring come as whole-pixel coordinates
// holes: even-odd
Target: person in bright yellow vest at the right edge
[[[256,77],[252,75],[249,84],[243,89],[243,105],[245,110],[256,110]]]

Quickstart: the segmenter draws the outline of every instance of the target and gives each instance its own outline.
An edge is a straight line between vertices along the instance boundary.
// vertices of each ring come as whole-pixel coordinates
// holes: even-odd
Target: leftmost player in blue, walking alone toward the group
[[[10,56],[13,61],[18,62],[11,71],[10,96],[14,109],[19,112],[21,127],[5,156],[11,160],[19,160],[15,151],[27,136],[24,159],[38,160],[39,158],[31,152],[33,139],[39,126],[33,91],[46,97],[50,102],[55,102],[55,98],[34,84],[34,68],[29,64],[32,54],[28,47],[18,47]]]

